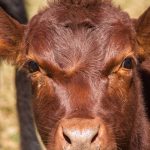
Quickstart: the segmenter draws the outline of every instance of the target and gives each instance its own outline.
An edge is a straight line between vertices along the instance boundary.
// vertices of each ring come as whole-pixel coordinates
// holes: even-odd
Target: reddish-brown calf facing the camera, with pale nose
[[[26,26],[0,16],[1,58],[29,73],[48,150],[150,149],[150,8],[133,21],[108,1],[60,0]]]

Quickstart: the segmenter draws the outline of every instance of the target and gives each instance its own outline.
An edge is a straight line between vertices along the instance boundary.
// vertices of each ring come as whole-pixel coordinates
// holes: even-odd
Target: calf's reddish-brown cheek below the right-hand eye
[[[136,89],[132,77],[112,76],[108,93],[113,111],[114,132],[120,140],[129,139],[137,109]]]

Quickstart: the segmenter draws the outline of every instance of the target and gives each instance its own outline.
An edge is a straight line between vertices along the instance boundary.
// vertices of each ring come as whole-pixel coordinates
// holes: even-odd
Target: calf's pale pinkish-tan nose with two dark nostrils
[[[99,131],[97,119],[65,119],[61,123],[62,146],[67,150],[97,150]]]

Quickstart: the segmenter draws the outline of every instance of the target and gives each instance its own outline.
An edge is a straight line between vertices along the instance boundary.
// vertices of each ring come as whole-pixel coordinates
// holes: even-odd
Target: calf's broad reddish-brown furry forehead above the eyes
[[[53,6],[33,18],[27,37],[31,53],[64,68],[100,67],[131,46],[134,30],[127,14],[105,3],[95,10],[71,8]]]

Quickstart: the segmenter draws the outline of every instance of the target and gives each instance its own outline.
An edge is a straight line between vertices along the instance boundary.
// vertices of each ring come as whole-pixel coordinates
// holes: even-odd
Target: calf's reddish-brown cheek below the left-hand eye
[[[43,80],[43,81],[42,81]],[[47,81],[46,81],[47,80]],[[52,81],[39,78],[33,81],[33,112],[40,136],[45,145],[59,121],[59,101]],[[42,81],[42,82],[41,82]]]

